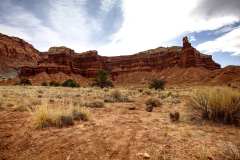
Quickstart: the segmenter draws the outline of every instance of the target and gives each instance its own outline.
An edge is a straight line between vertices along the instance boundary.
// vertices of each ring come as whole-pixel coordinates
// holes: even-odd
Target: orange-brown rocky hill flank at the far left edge
[[[0,33],[0,73],[21,66],[36,66],[40,60],[38,53],[24,40]]]

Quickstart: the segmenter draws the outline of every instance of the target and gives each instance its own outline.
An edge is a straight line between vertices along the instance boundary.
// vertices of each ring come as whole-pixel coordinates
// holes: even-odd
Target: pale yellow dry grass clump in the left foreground
[[[36,128],[65,127],[74,124],[74,120],[89,120],[89,111],[83,107],[70,107],[68,109],[49,107],[47,104],[39,106],[33,112],[34,126]]]

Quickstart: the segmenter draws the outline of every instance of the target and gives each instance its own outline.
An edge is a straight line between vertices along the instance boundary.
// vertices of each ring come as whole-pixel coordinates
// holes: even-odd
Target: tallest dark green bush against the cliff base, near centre
[[[100,88],[113,87],[112,81],[109,80],[109,74],[105,70],[98,71],[97,77],[92,85]]]

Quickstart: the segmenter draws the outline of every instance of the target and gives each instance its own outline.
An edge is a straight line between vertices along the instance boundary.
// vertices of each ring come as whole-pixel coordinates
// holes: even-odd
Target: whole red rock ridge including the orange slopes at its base
[[[76,53],[67,47],[51,47],[40,53],[22,39],[0,34],[0,73],[17,71],[17,76],[34,82],[84,79],[96,76],[98,70],[109,71],[115,83],[146,83],[161,78],[169,83],[219,83],[239,81],[239,67],[221,69],[209,55],[191,46],[187,37],[182,47],[159,47],[129,56],[105,57],[95,50]],[[45,75],[45,76],[41,76]],[[43,78],[47,77],[47,78]],[[80,77],[80,78],[79,78]]]

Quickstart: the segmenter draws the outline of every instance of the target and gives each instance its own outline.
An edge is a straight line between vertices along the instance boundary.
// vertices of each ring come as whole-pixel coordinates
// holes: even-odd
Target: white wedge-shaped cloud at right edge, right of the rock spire
[[[240,27],[224,34],[214,41],[207,41],[197,46],[197,49],[207,54],[214,52],[231,52],[240,55]]]

